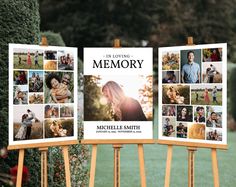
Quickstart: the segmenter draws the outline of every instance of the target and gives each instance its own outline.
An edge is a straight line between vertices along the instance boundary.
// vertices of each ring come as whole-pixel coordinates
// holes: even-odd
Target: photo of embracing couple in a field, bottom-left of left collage
[[[14,120],[15,140],[42,138],[42,122],[36,117],[32,110],[27,109],[24,113],[17,111],[14,117],[20,118],[19,122]]]

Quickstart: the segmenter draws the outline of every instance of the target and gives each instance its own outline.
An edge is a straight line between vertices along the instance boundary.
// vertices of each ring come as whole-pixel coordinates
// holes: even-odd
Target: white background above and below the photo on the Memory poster
[[[142,68],[93,68],[93,60],[144,60]],[[137,65],[137,64],[136,64]],[[153,74],[152,48],[84,48],[84,75],[102,75],[133,81],[138,75]],[[123,76],[123,77],[122,77]],[[136,79],[137,81],[137,79]],[[135,84],[135,83],[134,83]],[[130,87],[132,90],[132,87]],[[97,126],[121,126],[122,130],[97,130]],[[125,130],[125,126],[138,126],[140,130]],[[132,131],[132,132],[131,132]],[[84,139],[152,139],[152,121],[84,121]]]

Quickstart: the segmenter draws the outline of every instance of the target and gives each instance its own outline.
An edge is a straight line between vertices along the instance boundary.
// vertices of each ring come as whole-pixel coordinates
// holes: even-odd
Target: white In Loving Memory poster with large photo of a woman
[[[84,49],[84,139],[153,138],[152,53]]]

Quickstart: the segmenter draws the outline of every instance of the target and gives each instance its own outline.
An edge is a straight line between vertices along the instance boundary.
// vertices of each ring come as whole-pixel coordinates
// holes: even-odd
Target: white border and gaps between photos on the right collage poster
[[[189,138],[177,138],[177,137],[167,137],[163,136],[162,130],[162,53],[165,52],[179,52],[181,50],[195,50],[195,49],[209,49],[209,48],[222,48],[222,83],[216,83],[217,85],[222,85],[222,141],[213,141],[213,140],[200,140],[200,139],[189,139]],[[181,63],[181,57],[180,57]],[[202,63],[202,56],[201,56],[201,63]],[[210,63],[210,62],[203,62],[203,63]],[[215,62],[213,62],[215,63]],[[176,46],[176,47],[161,47],[158,49],[158,139],[160,140],[170,140],[170,141],[180,141],[180,142],[198,142],[198,143],[208,143],[208,144],[227,144],[227,44],[226,43],[219,43],[219,44],[206,44],[206,45],[193,45],[193,46]],[[181,69],[181,66],[179,67]],[[180,71],[181,72],[181,71]],[[202,73],[202,68],[201,68]],[[180,83],[181,85],[184,85]],[[212,83],[210,83],[212,85]],[[179,85],[179,84],[173,84]],[[207,85],[207,83],[198,83],[194,85]],[[190,84],[191,86],[191,84]],[[191,90],[191,88],[190,88]],[[191,101],[191,94],[190,94],[190,101]],[[179,105],[178,105],[179,106]],[[194,105],[188,105],[194,106]],[[197,106],[197,105],[196,105]],[[205,106],[205,105],[203,105]],[[215,105],[209,105],[215,106]],[[194,112],[194,111],[193,111]],[[205,111],[206,112],[206,111]],[[176,114],[177,115],[177,114]],[[189,122],[186,122],[189,123]],[[206,130],[205,130],[206,133]]]

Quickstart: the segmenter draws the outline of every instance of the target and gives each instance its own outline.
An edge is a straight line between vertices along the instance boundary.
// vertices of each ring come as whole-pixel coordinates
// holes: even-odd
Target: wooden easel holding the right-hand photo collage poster
[[[187,45],[193,44],[193,37],[187,38]],[[212,172],[213,172],[213,181],[214,187],[219,187],[219,172],[218,172],[218,162],[216,149],[227,149],[227,145],[215,145],[215,144],[204,144],[204,143],[190,143],[190,142],[177,142],[169,140],[157,140],[159,144],[168,145],[167,148],[167,160],[166,160],[166,174],[165,174],[165,187],[170,186],[170,172],[171,172],[171,161],[173,146],[186,146],[188,150],[188,187],[194,187],[194,159],[195,152],[198,148],[210,148],[211,149],[211,158],[212,158]]]

